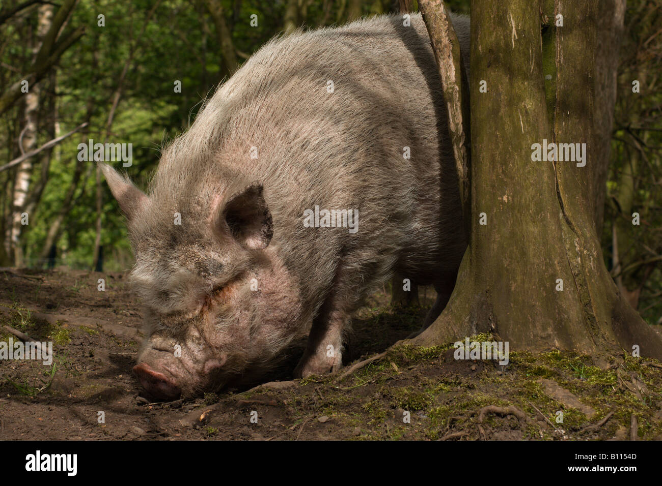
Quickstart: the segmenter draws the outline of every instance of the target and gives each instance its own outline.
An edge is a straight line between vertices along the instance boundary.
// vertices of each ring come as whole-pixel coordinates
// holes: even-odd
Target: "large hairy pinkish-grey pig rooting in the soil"
[[[469,19],[451,16],[469,72]],[[394,272],[437,317],[467,246],[422,17],[271,40],[163,151],[146,192],[109,165],[146,339],[134,372],[176,399],[255,382],[296,339],[296,377],[342,366],[363,299]],[[331,217],[332,216],[332,217]]]

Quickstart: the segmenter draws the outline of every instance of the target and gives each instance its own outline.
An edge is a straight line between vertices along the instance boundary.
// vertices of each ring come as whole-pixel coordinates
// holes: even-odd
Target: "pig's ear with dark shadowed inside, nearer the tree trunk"
[[[262,196],[262,185],[252,184],[234,194],[225,204],[222,218],[240,245],[266,248],[273,236],[271,212]]]

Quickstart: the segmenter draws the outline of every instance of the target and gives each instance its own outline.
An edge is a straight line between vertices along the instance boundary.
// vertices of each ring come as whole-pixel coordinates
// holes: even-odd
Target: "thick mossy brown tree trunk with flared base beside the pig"
[[[662,341],[610,278],[597,232],[625,1],[540,10],[544,30],[529,0],[471,3],[470,243],[446,309],[412,341],[492,332],[510,350],[637,345],[662,358]],[[586,165],[532,161],[544,139],[586,143]]]

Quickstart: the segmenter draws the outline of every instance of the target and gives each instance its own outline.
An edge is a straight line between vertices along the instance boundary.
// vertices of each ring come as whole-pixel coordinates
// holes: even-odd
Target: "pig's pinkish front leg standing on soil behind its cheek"
[[[342,366],[342,332],[351,317],[326,304],[312,322],[306,351],[294,370],[295,378],[335,372]]]

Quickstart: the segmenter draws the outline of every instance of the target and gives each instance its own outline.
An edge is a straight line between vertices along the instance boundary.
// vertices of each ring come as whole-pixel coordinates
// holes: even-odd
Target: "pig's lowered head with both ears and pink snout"
[[[272,241],[262,186],[201,177],[204,188],[148,196],[102,168],[136,255],[130,278],[145,305],[146,339],[134,372],[142,385],[174,399],[263,373],[300,331],[301,304]]]

